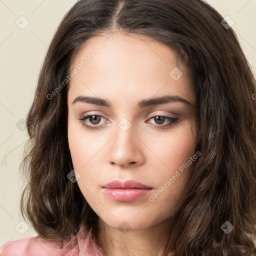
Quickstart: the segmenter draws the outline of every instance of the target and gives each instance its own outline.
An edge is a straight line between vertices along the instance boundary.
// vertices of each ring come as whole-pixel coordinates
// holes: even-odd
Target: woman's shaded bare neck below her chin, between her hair
[[[104,256],[162,256],[170,235],[170,219],[146,229],[120,230],[98,218],[98,242]],[[173,255],[169,253],[168,256]]]

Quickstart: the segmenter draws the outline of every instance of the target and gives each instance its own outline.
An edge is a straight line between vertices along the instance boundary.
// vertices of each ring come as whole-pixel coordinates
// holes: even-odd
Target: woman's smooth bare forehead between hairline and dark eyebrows
[[[171,71],[177,67],[182,75],[175,80]],[[69,86],[76,94],[105,97],[115,92],[128,97],[133,92],[133,98],[145,98],[166,92],[195,103],[186,68],[175,51],[146,36],[120,32],[93,36],[74,56],[73,68],[78,72]]]

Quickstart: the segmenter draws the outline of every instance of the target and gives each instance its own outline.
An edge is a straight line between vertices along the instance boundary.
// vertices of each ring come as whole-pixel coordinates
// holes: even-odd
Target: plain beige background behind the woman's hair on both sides
[[[24,184],[18,165],[22,146],[28,138],[26,130],[22,131],[22,124],[33,99],[47,45],[74,2],[0,0],[0,246],[9,240],[36,235],[28,223],[20,222],[19,199]],[[222,16],[228,15],[234,20],[232,28],[255,74],[256,34],[253,24],[256,24],[256,0],[208,2]],[[21,15],[29,21],[24,29],[15,23]]]

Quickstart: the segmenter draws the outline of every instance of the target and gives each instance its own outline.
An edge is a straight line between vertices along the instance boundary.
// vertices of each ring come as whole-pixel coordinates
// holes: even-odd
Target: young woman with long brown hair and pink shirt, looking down
[[[26,124],[21,211],[0,255],[255,255],[255,79],[200,0],[80,0]]]

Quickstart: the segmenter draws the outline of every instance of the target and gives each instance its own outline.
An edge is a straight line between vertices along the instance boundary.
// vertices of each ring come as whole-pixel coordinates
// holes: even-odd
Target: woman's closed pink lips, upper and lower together
[[[112,180],[101,186],[104,193],[115,201],[134,201],[148,194],[152,187],[135,180]]]

